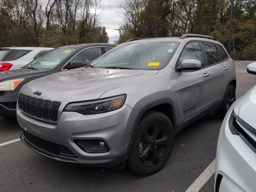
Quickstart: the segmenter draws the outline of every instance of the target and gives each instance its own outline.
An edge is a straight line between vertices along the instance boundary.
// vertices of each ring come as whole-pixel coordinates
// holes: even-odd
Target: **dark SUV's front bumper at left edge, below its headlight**
[[[18,92],[0,91],[0,116],[16,117]]]

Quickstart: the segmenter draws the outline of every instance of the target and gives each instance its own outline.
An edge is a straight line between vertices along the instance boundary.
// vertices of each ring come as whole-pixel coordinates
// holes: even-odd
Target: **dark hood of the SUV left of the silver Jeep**
[[[17,78],[26,78],[28,76],[44,74],[47,70],[39,70],[39,69],[26,69],[20,68],[16,70],[4,71],[0,72],[0,82],[5,80],[17,79]]]

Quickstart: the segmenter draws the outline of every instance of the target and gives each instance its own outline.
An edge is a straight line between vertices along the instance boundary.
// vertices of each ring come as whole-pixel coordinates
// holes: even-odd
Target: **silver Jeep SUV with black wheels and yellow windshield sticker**
[[[126,163],[148,175],[164,166],[182,128],[210,112],[224,117],[235,89],[234,61],[212,37],[136,40],[24,85],[20,138],[61,162]]]

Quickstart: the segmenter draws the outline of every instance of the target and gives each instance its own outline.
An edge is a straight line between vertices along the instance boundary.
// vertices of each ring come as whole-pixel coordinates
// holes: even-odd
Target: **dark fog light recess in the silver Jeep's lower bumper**
[[[104,140],[88,139],[75,140],[77,146],[88,153],[106,153],[109,151],[108,145]]]

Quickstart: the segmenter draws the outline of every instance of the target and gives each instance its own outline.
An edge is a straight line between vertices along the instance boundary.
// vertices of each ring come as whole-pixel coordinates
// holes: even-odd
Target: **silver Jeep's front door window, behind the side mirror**
[[[204,66],[204,58],[199,42],[191,42],[186,45],[180,56],[178,67],[182,67],[181,63],[185,59],[198,60],[201,62],[202,66]]]

